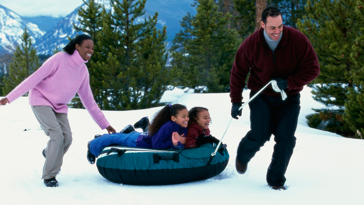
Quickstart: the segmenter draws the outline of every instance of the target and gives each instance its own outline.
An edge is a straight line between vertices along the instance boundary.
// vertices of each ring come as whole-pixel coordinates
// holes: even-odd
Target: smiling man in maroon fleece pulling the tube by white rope
[[[250,131],[242,138],[237,151],[236,169],[244,174],[248,162],[274,135],[272,162],[267,182],[273,189],[285,189],[288,162],[296,144],[294,133],[300,113],[300,91],[320,73],[317,55],[307,37],[282,24],[282,14],[275,7],[262,12],[262,28],[250,35],[239,47],[230,76],[231,115],[241,116],[242,91],[248,73],[250,97],[270,80],[288,98],[282,100],[272,87],[266,88],[249,103]]]

